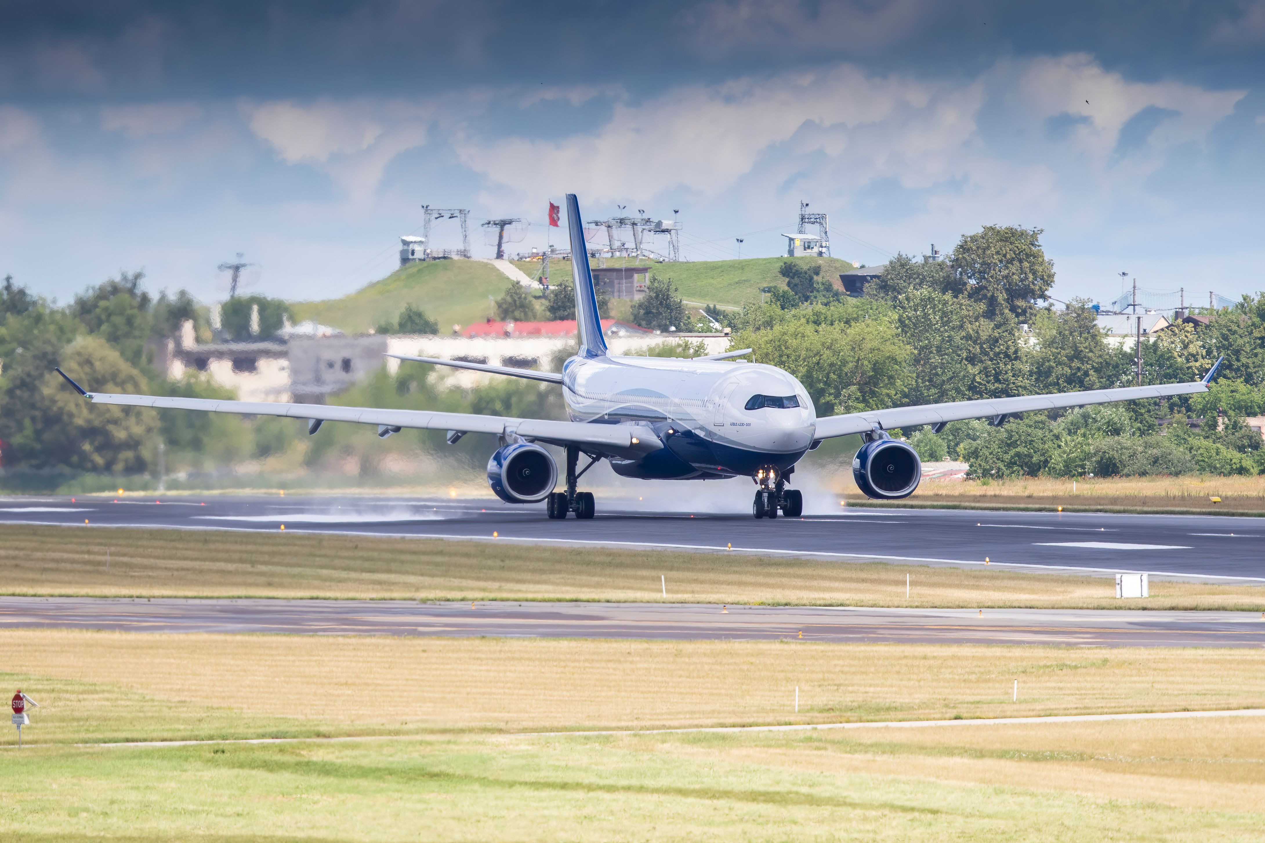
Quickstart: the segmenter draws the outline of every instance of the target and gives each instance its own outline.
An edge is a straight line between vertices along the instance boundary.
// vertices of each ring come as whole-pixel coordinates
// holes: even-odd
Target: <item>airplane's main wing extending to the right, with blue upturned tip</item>
[[[1084,407],[1087,404],[1106,404],[1114,401],[1133,401],[1137,398],[1165,398],[1169,396],[1189,396],[1208,392],[1208,383],[1216,374],[1221,360],[1202,380],[1190,383],[1170,383],[1155,387],[1123,387],[1120,389],[1089,389],[1085,392],[1063,392],[1049,396],[1021,396],[1017,398],[983,398],[979,401],[955,401],[945,404],[921,404],[918,407],[896,407],[892,409],[872,409],[846,416],[827,416],[817,420],[815,439],[831,439],[849,434],[864,434],[875,427],[892,430],[896,427],[916,427],[918,425],[941,425],[968,418],[992,417],[1001,423],[1006,416],[1026,413],[1034,409],[1060,409],[1064,407]]]

